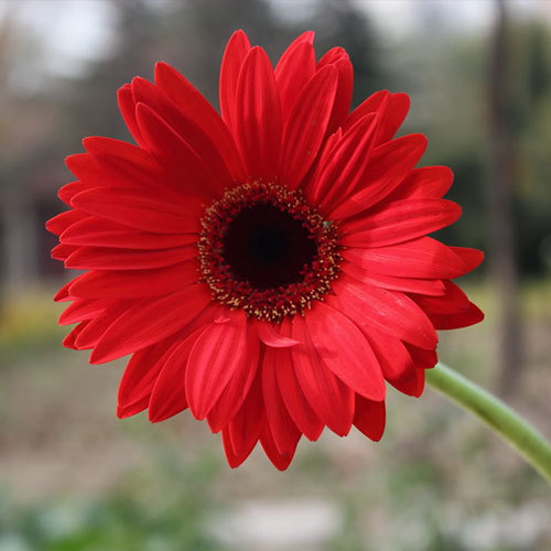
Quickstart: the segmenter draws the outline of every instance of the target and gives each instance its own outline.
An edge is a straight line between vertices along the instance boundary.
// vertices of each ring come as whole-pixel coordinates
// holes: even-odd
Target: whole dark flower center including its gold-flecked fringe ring
[[[205,210],[198,249],[213,298],[280,322],[322,300],[338,274],[337,231],[298,191],[242,184]]]

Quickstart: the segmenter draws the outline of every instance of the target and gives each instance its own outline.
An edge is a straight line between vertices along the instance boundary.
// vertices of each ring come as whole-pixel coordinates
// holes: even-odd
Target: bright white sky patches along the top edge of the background
[[[151,1],[161,4],[165,0]],[[440,32],[480,32],[490,24],[495,8],[494,0],[355,1],[389,41],[399,41],[415,30],[428,32],[431,13],[439,17]],[[299,15],[315,0],[271,2],[289,15]],[[509,0],[509,6],[520,17],[551,21],[550,0]],[[44,44],[41,57],[48,73],[77,75],[87,61],[105,55],[112,44],[114,11],[105,0],[0,0],[0,20],[6,17],[20,22]]]

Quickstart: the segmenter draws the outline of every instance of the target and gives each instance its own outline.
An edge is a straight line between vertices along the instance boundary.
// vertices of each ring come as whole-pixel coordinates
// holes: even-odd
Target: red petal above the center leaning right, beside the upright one
[[[333,65],[318,71],[302,88],[283,132],[281,181],[298,187],[325,139],[338,84]]]

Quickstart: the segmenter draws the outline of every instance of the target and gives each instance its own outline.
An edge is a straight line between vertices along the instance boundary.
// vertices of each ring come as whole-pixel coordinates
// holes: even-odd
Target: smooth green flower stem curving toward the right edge
[[[518,413],[444,364],[428,369],[426,380],[432,388],[478,415],[551,484],[551,445]]]

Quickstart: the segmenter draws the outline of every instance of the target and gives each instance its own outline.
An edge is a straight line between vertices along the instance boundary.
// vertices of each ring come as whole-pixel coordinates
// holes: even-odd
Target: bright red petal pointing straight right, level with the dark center
[[[451,247],[431,237],[378,249],[350,248],[342,255],[365,270],[397,278],[453,279],[468,271]]]

